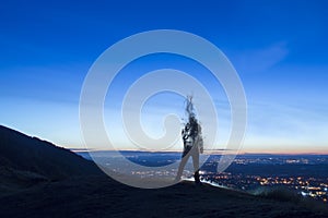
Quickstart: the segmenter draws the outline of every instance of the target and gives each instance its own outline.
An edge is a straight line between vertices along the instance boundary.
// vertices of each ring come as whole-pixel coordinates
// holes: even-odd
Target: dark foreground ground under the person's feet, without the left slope
[[[187,182],[141,190],[80,177],[0,197],[0,217],[328,217],[320,206]]]

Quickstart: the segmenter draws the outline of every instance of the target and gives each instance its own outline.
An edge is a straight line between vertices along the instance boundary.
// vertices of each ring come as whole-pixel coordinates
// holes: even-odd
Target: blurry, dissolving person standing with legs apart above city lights
[[[200,184],[199,179],[199,154],[203,152],[203,141],[201,136],[201,126],[198,123],[192,105],[192,97],[187,97],[187,107],[186,111],[188,113],[188,123],[181,131],[181,136],[184,141],[184,153],[181,157],[181,161],[178,168],[178,172],[176,175],[176,181],[179,181],[185,166],[191,156],[192,165],[194,165],[194,178],[197,184]]]

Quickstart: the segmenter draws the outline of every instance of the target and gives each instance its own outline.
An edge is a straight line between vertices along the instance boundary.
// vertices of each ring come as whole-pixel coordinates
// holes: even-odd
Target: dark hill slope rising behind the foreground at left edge
[[[0,125],[0,189],[94,173],[96,166],[74,153]]]

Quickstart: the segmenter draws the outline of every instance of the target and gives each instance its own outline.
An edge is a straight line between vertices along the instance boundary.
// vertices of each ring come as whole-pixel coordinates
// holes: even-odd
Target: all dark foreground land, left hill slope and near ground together
[[[318,202],[189,182],[160,190],[129,187],[69,150],[3,126],[0,149],[0,217],[328,217],[327,205]]]

